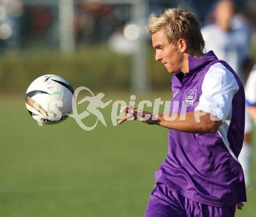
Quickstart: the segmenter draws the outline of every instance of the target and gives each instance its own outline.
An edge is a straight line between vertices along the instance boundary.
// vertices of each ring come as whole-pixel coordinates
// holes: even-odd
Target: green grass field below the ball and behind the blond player
[[[23,96],[1,97],[0,112],[0,216],[143,216],[167,154],[167,129],[138,121],[112,126],[111,107],[102,110],[106,128],[84,131],[73,118],[38,126]],[[255,216],[255,193],[248,189],[236,216]]]

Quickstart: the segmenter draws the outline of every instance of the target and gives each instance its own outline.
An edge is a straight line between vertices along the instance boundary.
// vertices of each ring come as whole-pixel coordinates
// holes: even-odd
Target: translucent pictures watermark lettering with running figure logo
[[[82,100],[77,102],[77,97],[79,96],[79,93],[81,91],[86,91],[88,93],[88,96],[84,97]],[[182,102],[173,101],[172,111],[170,111],[170,103],[171,103],[170,100],[163,101],[161,100],[161,97],[155,99],[154,102],[151,102],[150,100],[141,100],[140,102],[138,102],[137,109],[140,112],[137,113],[137,116],[140,117],[140,120],[143,120],[143,121],[147,121],[149,118],[152,118],[152,120],[158,120],[160,107],[163,106],[163,118],[166,121],[176,120],[179,108],[181,111],[180,117],[179,117],[180,120],[186,120],[187,108],[189,108],[190,106],[197,107],[197,104],[199,103],[197,102],[195,103],[195,105],[193,104],[196,93],[197,93],[197,90],[190,90],[188,91],[186,95],[186,99],[184,101]],[[104,93],[98,93],[97,95],[94,95],[94,93],[89,88],[86,88],[85,86],[80,86],[74,91],[73,114],[67,114],[67,115],[69,115],[69,117],[74,118],[74,120],[76,120],[80,128],[84,129],[85,131],[91,131],[98,125],[98,122],[101,122],[101,124],[103,124],[105,127],[107,126],[104,115],[101,112],[104,108],[112,105],[111,114],[110,114],[111,122],[113,126],[117,126],[118,120],[120,120],[126,115],[126,112],[122,111],[122,108],[126,107],[126,105],[129,105],[129,110],[127,114],[130,115],[130,118],[128,118],[127,120],[132,120],[131,117],[133,117],[133,108],[135,107],[135,104],[136,104],[136,95],[130,96],[129,103],[125,102],[125,100],[116,100],[116,101],[108,100],[105,102],[104,96],[105,96]],[[86,110],[81,113],[78,113],[77,105],[83,104],[84,102],[87,102],[88,104]],[[55,117],[53,118],[54,121],[61,120],[62,113],[58,109],[58,107],[62,107],[62,105],[63,103],[59,101],[51,103],[50,106],[52,107],[52,111],[54,111],[55,113]],[[211,108],[209,108],[209,110],[218,111],[218,114],[220,114],[221,113],[220,107],[222,106],[213,103]],[[143,111],[147,110],[147,108],[153,108],[152,114],[154,115],[143,114]],[[195,121],[200,122],[200,117],[205,114],[207,114],[205,111],[197,111],[197,113],[195,113]],[[84,120],[84,118],[90,115],[93,115],[97,119],[94,122],[94,124],[87,126],[86,124],[84,124],[82,120]],[[219,120],[219,118],[217,118],[215,115],[211,115],[211,120],[217,121]],[[41,126],[42,122],[38,121],[38,124]]]

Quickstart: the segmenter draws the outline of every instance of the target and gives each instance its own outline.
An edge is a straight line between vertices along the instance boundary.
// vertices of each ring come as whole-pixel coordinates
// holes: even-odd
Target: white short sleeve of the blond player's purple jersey
[[[202,95],[195,110],[202,110],[226,120],[233,96],[239,90],[234,75],[221,63],[211,66],[202,82]]]

